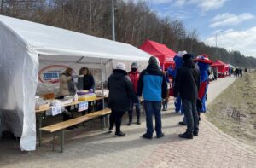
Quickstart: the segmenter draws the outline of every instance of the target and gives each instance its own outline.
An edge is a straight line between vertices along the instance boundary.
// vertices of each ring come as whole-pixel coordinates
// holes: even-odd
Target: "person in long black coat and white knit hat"
[[[112,75],[108,78],[108,107],[112,111],[109,118],[109,131],[113,131],[115,124],[115,136],[125,136],[125,133],[120,130],[122,117],[125,111],[132,109],[132,103],[137,103],[137,96],[125,69],[124,63],[117,63]]]

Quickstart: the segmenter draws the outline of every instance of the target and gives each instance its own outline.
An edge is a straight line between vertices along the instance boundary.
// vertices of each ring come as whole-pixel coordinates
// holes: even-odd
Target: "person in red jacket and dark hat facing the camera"
[[[140,72],[138,71],[138,67],[137,67],[137,62],[133,62],[131,64],[131,72],[128,73],[129,77],[131,78],[131,83],[133,85],[133,90],[135,91],[135,93],[137,94],[137,82],[140,76]],[[138,99],[138,97],[137,97]],[[138,101],[138,103],[135,104],[136,107],[136,114],[137,114],[137,125],[141,124],[140,121],[140,103]],[[129,115],[129,123],[127,125],[131,125],[132,123],[132,113],[133,113],[133,107],[132,109],[128,112]]]

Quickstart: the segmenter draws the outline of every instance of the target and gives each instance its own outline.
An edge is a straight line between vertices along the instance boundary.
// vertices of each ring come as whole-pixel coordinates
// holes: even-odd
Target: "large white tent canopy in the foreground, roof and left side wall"
[[[35,150],[39,62],[106,66],[118,60],[145,62],[150,56],[130,44],[0,15],[0,134],[1,129],[17,132],[21,150]]]

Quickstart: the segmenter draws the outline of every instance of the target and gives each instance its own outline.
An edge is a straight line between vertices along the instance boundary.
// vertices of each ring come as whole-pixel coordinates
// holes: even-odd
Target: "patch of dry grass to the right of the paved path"
[[[220,130],[256,148],[256,72],[244,74],[209,106],[207,118]]]

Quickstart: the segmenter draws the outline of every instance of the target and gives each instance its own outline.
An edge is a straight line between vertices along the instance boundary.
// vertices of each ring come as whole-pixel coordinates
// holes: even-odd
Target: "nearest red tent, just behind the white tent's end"
[[[174,65],[173,57],[177,55],[177,53],[166,47],[165,44],[147,40],[139,49],[157,57],[160,61],[160,66],[163,67],[163,69],[170,65]]]

